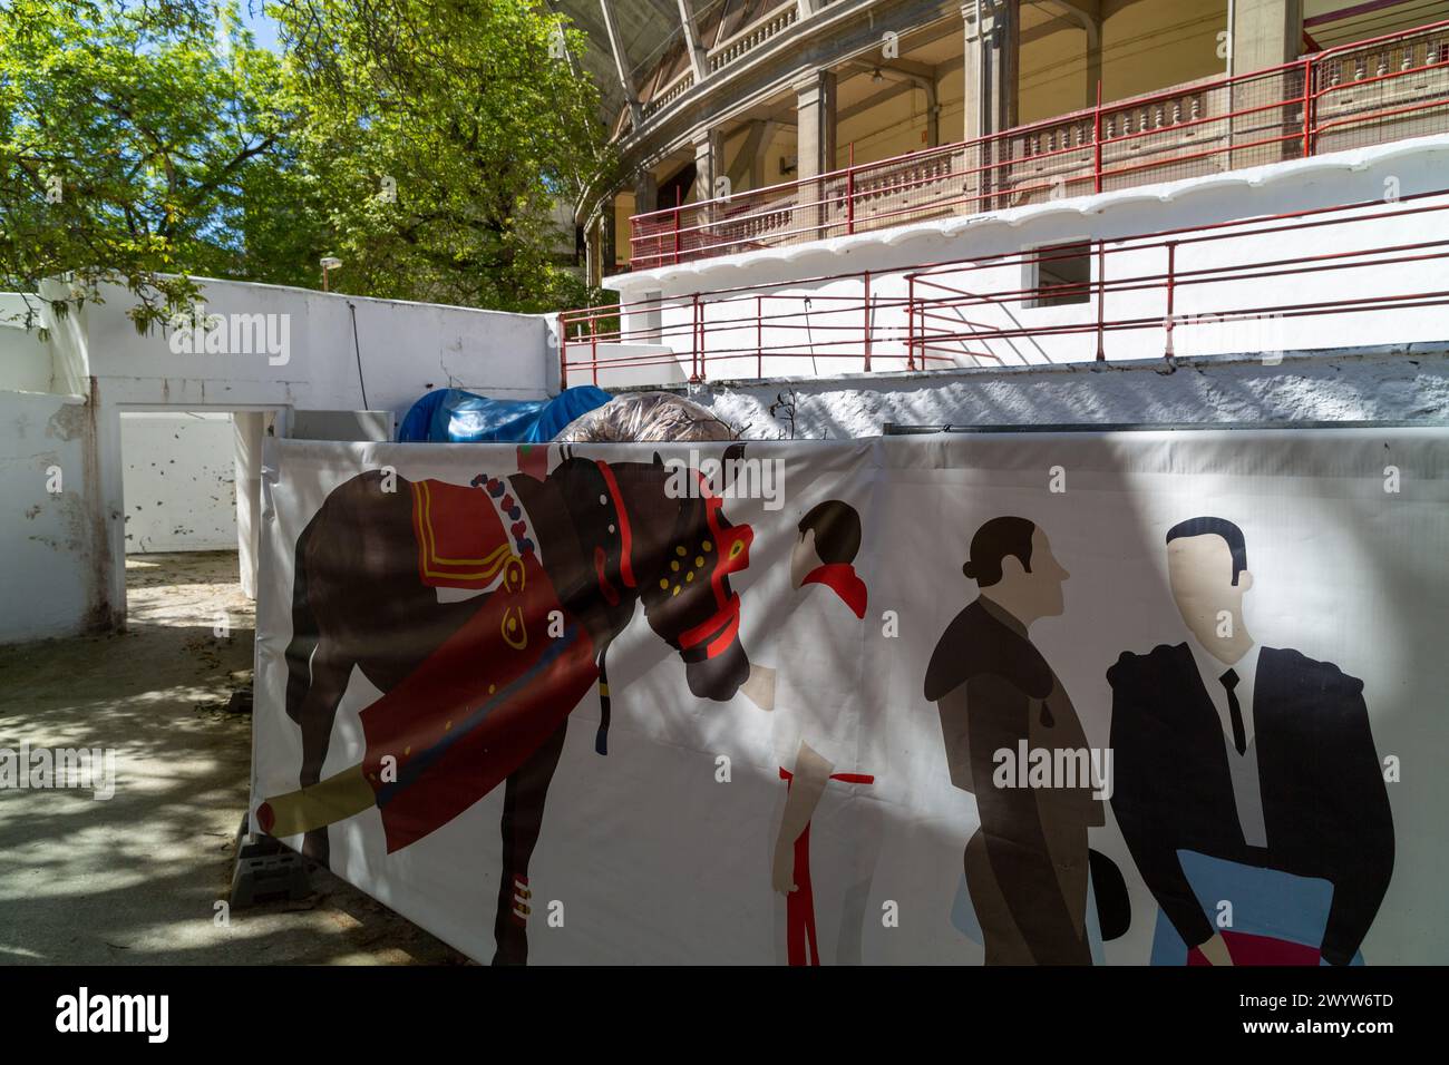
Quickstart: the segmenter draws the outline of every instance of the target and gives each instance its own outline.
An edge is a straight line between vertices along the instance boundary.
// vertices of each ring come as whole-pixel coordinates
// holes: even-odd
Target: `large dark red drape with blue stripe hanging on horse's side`
[[[496,788],[588,693],[598,677],[593,640],[567,611],[574,638],[551,639],[551,610],[562,607],[548,574],[525,555],[458,632],[361,711],[362,768],[378,797],[388,853]],[[396,636],[406,640],[407,630]],[[396,784],[383,780],[387,755],[397,759]]]

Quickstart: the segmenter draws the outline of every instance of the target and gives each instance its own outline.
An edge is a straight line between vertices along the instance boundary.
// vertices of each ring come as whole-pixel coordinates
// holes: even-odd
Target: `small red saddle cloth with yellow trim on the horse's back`
[[[487,588],[513,548],[484,488],[413,481],[417,575],[429,588]]]

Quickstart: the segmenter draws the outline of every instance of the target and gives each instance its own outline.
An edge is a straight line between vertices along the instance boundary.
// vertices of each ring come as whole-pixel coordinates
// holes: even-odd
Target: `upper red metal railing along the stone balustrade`
[[[1100,97],[1100,91],[1098,91]],[[630,219],[648,270],[1449,130],[1449,20]]]

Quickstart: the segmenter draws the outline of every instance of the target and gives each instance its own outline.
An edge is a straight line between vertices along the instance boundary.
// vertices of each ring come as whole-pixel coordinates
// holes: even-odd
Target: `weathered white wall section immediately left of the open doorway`
[[[0,391],[0,642],[110,620],[106,529],[90,506],[94,443],[83,400]]]

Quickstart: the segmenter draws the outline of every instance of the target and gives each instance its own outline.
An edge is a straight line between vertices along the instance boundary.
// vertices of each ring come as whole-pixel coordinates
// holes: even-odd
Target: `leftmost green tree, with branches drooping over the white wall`
[[[80,300],[120,280],[145,329],[194,298],[193,274],[296,280],[296,230],[291,246],[261,241],[264,255],[246,241],[249,201],[296,199],[277,165],[281,90],[280,59],[230,0],[7,0],[0,283],[33,291],[70,274]]]

